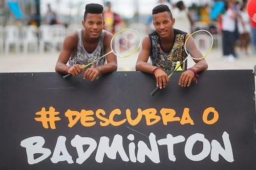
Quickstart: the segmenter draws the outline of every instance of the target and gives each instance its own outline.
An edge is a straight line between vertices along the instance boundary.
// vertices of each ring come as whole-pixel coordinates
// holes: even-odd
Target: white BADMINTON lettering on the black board
[[[102,136],[97,142],[97,139],[91,137],[75,135],[75,137],[70,141],[70,144],[72,147],[76,148],[77,155],[74,155],[72,158],[66,148],[67,138],[65,136],[59,136],[50,160],[52,163],[68,162],[71,164],[74,163],[73,159],[76,158],[76,163],[82,164],[89,157],[95,156],[95,161],[102,163],[105,161],[106,157],[112,160],[117,159],[117,154],[119,154],[123,162],[131,161],[144,163],[145,157],[147,156],[152,162],[160,163],[161,157],[159,154],[159,148],[164,147],[167,148],[169,160],[175,162],[177,152],[175,152],[174,147],[180,147],[179,144],[184,142],[184,154],[186,158],[191,161],[202,161],[204,159],[208,159],[208,155],[210,155],[210,159],[214,162],[218,162],[220,160],[219,155],[221,155],[227,162],[234,161],[229,134],[225,131],[222,134],[221,142],[215,139],[210,142],[201,133],[195,133],[187,139],[182,135],[173,136],[172,134],[167,134],[166,137],[157,139],[154,133],[150,133],[150,135],[145,138],[145,141],[140,140],[138,143],[133,141],[134,138],[135,136],[133,134],[129,134],[128,136],[116,134],[113,139]],[[110,140],[112,140],[112,143],[110,143]],[[198,141],[202,143],[202,151],[199,154],[194,155],[192,151],[195,143]],[[129,146],[127,147],[127,145],[123,145],[124,142],[129,142]],[[149,148],[146,143],[149,143]],[[220,143],[224,143],[224,148]],[[39,163],[51,155],[52,151],[45,148],[44,144],[45,139],[41,136],[29,137],[20,142],[20,145],[26,148],[27,161],[29,164]],[[87,146],[86,151],[84,151],[84,145]],[[137,151],[135,150],[136,147]],[[125,149],[129,150],[129,153],[126,153]],[[35,158],[35,154],[40,154],[40,157]],[[91,163],[91,161],[87,161],[87,163]]]

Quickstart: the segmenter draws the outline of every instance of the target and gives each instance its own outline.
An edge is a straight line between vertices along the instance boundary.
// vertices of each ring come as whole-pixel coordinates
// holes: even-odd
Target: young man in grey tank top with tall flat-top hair
[[[113,35],[103,30],[103,6],[87,4],[82,21],[83,29],[68,35],[63,42],[55,71],[77,76],[83,72],[83,65],[98,59],[111,51],[110,42]],[[69,66],[66,65],[69,61]],[[117,70],[116,56],[111,53],[88,67],[83,79],[95,80],[99,74]]]

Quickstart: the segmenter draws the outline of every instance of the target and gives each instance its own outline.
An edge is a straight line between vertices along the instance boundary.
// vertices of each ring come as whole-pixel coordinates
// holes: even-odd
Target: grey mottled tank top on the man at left
[[[101,56],[104,55],[104,46],[103,46],[103,39],[104,39],[104,33],[105,30],[102,30],[100,36],[99,36],[99,41],[98,44],[94,50],[93,53],[88,53],[84,47],[83,47],[83,40],[82,40],[82,29],[77,30],[78,34],[78,43],[77,43],[77,48],[74,50],[74,52],[71,54],[69,58],[69,65],[75,65],[75,64],[89,64],[90,62],[100,58]],[[103,65],[105,64],[105,57],[99,59],[96,61],[94,64],[96,65]],[[89,66],[90,68],[90,66]]]

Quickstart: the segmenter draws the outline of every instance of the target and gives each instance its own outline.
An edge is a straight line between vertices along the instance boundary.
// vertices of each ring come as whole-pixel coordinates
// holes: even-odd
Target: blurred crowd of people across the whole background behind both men
[[[222,3],[221,6],[216,4]],[[156,5],[164,4],[169,7],[176,19],[174,28],[187,33],[200,29],[206,29],[210,33],[222,38],[223,57],[228,61],[235,61],[239,56],[256,54],[256,23],[247,14],[248,0],[222,0],[214,1],[211,4],[191,4],[186,6],[185,1],[159,0]],[[218,4],[218,5],[219,5]],[[48,10],[42,14],[41,25],[55,25],[61,23],[57,13],[47,5]],[[216,7],[216,8],[215,8]],[[150,11],[151,9],[148,9]],[[218,12],[216,12],[218,11]],[[215,17],[212,17],[214,15]],[[115,34],[120,30],[129,28],[131,21],[122,18],[112,8],[112,2],[104,1],[104,30]],[[38,26],[36,17],[31,14],[29,25]],[[152,15],[144,19],[145,34],[154,30]],[[62,23],[67,27],[67,23]]]

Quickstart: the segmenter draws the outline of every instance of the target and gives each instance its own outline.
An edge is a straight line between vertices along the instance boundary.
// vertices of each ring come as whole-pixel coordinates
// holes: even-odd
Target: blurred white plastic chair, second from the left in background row
[[[34,52],[38,50],[37,28],[35,26],[26,26],[22,29],[24,53],[29,52],[29,47],[33,47]]]

